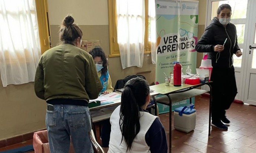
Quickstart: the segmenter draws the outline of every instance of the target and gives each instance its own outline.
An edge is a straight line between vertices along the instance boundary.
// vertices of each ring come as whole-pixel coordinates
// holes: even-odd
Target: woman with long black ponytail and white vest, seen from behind
[[[108,153],[167,153],[164,126],[145,110],[149,102],[146,80],[133,78],[125,84],[121,105],[110,117]]]

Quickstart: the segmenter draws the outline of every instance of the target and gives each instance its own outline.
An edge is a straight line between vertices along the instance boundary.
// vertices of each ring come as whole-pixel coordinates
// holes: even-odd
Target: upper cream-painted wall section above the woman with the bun
[[[108,25],[107,0],[47,0],[50,24],[59,25],[71,14],[79,25]]]

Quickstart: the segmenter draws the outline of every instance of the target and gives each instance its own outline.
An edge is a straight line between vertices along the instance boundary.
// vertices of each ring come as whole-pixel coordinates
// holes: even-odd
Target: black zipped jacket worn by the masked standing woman
[[[224,50],[219,53],[214,51],[214,46],[223,45],[226,38]],[[230,68],[233,65],[233,54],[240,50],[237,45],[236,27],[232,23],[224,27],[219,19],[214,17],[197,42],[196,50],[197,52],[208,52],[208,59],[211,59],[213,68]]]

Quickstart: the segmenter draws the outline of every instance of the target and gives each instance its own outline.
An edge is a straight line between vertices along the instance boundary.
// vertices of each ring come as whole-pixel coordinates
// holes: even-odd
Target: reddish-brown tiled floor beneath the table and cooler
[[[211,136],[208,137],[209,98],[198,96],[195,105],[197,116],[194,131],[179,132],[174,129],[172,123],[173,153],[256,153],[256,106],[232,103],[226,113],[231,121],[228,125],[229,130],[224,131],[212,127]],[[160,120],[165,127],[167,140],[169,140],[169,113],[161,114]],[[97,140],[101,144],[99,137]],[[32,140],[29,140],[25,143],[0,148],[0,151],[31,144]]]

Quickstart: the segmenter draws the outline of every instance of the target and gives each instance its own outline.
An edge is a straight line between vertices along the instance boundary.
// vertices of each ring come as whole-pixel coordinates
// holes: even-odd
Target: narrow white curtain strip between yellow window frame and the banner
[[[156,62],[156,27],[155,27],[155,0],[148,0],[148,16],[150,18],[150,28],[149,30],[149,37],[148,41],[151,42],[151,59],[152,63],[155,64]]]

